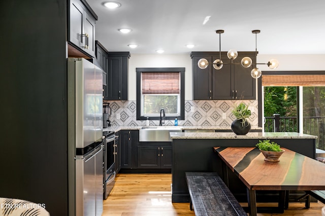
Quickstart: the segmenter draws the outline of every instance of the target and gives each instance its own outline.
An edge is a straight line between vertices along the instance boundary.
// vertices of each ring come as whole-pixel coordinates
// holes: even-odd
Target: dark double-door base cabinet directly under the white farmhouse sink
[[[172,168],[171,142],[139,142],[138,168],[139,169],[143,169],[143,168],[144,169],[171,169]]]

